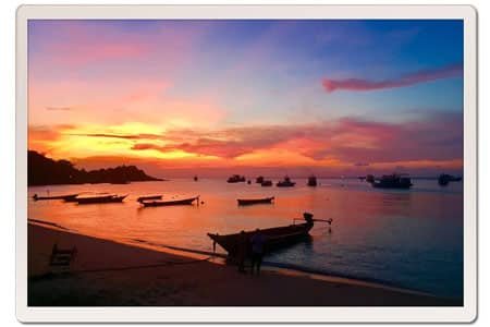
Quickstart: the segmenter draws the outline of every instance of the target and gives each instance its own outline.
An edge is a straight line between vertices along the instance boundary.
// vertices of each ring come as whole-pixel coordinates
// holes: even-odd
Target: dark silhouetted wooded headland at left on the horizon
[[[27,185],[58,185],[85,183],[125,184],[130,182],[162,181],[147,175],[136,166],[118,166],[86,171],[69,160],[53,160],[35,152],[27,152]]]

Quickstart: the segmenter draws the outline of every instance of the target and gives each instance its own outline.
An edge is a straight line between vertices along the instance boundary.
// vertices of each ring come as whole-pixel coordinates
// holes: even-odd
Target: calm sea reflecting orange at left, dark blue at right
[[[176,179],[126,185],[84,184],[29,187],[28,217],[56,222],[79,233],[130,242],[140,239],[212,251],[208,232],[292,223],[303,211],[333,218],[331,231],[316,223],[311,240],[269,255],[266,261],[316,271],[421,290],[463,295],[463,183],[446,187],[436,180],[413,180],[414,187],[375,190],[355,179],[319,179],[317,187],[295,179],[291,189],[229,184],[225,179]],[[275,181],[274,181],[275,182]],[[79,192],[128,194],[123,204],[76,205],[34,202],[32,196]],[[200,195],[200,206],[142,208],[145,194],[164,199]],[[236,198],[275,196],[272,205],[238,207]],[[218,251],[222,252],[222,249]]]

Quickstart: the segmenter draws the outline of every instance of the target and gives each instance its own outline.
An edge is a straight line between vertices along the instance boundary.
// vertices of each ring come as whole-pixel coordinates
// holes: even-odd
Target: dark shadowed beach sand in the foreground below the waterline
[[[48,274],[52,245],[76,245],[72,272]],[[212,264],[29,223],[28,305],[458,305],[335,278]],[[135,266],[150,266],[131,268]],[[119,269],[121,268],[121,269]],[[85,272],[83,272],[85,270]],[[88,271],[87,271],[88,270]]]

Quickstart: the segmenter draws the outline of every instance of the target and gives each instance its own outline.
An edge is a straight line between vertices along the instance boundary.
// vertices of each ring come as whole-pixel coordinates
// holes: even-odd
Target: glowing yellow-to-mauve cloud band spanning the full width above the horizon
[[[390,162],[393,167],[396,162],[430,166],[462,160],[463,114],[440,111],[396,123],[347,117],[317,123],[164,132],[147,125],[96,130],[82,125],[32,125],[29,148],[59,157],[121,155],[166,159],[171,165],[180,160],[186,166],[208,159],[219,167],[274,164],[373,169]]]

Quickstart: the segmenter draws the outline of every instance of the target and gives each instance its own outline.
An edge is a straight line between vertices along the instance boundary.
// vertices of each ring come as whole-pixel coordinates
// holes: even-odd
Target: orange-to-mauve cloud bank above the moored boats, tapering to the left
[[[159,143],[135,143],[132,149],[180,150],[223,159],[257,153],[272,156],[290,153],[308,161],[335,159],[360,167],[400,160],[456,159],[462,158],[462,116],[439,112],[403,123],[344,118],[315,124],[174,130],[163,133]]]

